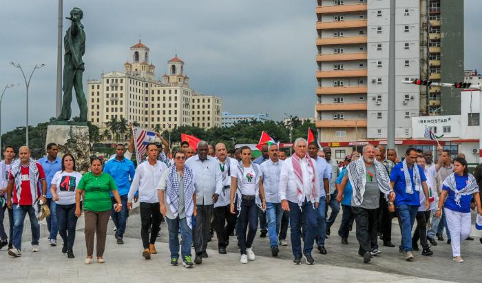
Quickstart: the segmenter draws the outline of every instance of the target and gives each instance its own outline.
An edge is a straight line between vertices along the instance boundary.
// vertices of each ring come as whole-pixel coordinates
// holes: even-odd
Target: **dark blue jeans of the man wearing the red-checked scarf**
[[[301,247],[301,227],[302,218],[306,221],[306,231],[303,231],[304,246],[303,254],[311,255],[313,251],[313,243],[315,242],[315,233],[317,230],[317,211],[311,202],[305,201],[302,207],[296,202],[290,202],[289,204],[289,220],[291,226],[291,249],[293,249],[293,255],[295,258],[302,258]],[[303,210],[303,212],[302,212]]]

